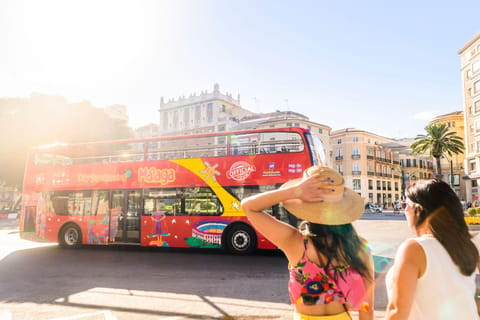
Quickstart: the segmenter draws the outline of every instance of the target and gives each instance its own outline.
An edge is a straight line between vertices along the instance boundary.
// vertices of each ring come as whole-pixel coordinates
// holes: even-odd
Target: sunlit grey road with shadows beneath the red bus
[[[384,271],[410,232],[402,217],[388,215],[364,216],[355,227],[376,255],[381,319]],[[21,240],[14,223],[0,221],[0,259],[1,320],[291,319],[287,263],[279,252],[64,250]]]

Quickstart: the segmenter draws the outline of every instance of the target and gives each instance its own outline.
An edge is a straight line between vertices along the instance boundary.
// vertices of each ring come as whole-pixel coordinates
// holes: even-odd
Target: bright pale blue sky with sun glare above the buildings
[[[0,98],[127,107],[211,92],[332,130],[414,137],[460,111],[480,1],[0,0]]]

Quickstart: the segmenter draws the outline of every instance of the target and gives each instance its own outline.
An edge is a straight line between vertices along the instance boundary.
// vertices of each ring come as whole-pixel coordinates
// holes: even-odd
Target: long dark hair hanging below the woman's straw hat
[[[325,225],[306,222],[307,235],[317,251],[326,258],[325,267],[332,261],[345,262],[362,277],[372,280],[372,274],[364,257],[367,251],[366,242],[358,236],[351,223],[342,225]]]

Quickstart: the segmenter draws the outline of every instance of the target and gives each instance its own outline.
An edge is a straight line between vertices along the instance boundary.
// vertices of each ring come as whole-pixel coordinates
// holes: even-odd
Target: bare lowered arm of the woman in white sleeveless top
[[[408,319],[418,278],[426,267],[426,256],[420,244],[413,239],[402,243],[393,265],[392,296],[388,301],[386,320]]]

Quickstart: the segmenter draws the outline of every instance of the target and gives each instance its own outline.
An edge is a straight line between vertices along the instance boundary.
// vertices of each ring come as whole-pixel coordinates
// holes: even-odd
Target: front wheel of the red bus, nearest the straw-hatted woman
[[[257,249],[257,235],[247,224],[237,223],[228,228],[225,248],[233,254],[250,254]]]

